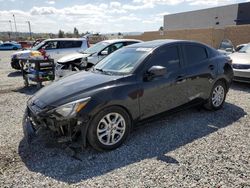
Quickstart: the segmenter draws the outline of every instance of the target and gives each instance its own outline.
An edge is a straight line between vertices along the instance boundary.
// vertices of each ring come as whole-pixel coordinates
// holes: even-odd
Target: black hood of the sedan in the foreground
[[[80,94],[83,96],[84,93],[89,93],[106,85],[110,85],[111,82],[121,77],[122,76],[111,76],[82,71],[64,77],[42,88],[29,100],[28,103],[35,103],[40,108],[45,108],[48,105],[58,105],[58,103],[64,103],[67,101],[65,100],[67,98]]]

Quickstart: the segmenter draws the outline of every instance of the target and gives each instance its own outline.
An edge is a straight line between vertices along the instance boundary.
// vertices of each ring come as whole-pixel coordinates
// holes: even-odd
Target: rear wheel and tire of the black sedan
[[[204,107],[208,110],[219,110],[222,108],[227,94],[226,84],[223,81],[217,81],[210,93],[208,102]]]

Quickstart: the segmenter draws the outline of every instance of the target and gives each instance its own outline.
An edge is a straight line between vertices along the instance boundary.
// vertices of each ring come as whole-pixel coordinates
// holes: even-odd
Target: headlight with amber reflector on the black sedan
[[[63,117],[75,117],[90,101],[91,97],[73,101],[57,107],[54,111]]]

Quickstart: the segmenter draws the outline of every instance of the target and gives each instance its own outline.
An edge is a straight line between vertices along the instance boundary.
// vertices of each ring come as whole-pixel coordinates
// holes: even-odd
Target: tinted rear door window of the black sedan
[[[206,48],[201,46],[186,45],[185,51],[189,65],[200,63],[208,58]]]

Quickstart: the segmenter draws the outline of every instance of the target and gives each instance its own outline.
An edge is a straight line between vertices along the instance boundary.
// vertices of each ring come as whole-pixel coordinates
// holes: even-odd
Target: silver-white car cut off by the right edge
[[[230,54],[229,57],[232,59],[234,80],[250,83],[250,44]]]

